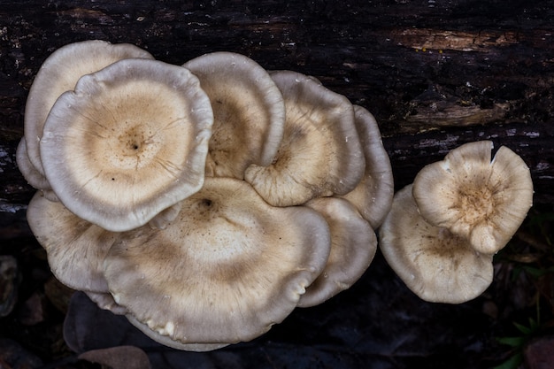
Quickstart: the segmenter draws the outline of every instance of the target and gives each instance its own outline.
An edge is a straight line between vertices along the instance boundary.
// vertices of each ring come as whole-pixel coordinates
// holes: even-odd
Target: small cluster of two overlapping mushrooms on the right
[[[493,280],[492,258],[533,204],[525,162],[493,143],[470,142],[427,165],[394,196],[380,248],[406,286],[423,300],[459,304]]]

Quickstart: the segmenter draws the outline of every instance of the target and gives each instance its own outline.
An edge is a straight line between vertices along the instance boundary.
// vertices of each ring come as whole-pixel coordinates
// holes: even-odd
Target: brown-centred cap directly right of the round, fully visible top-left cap
[[[233,52],[212,52],[183,66],[212,101],[206,175],[242,180],[250,164],[270,165],[283,135],[285,105],[269,73]]]

